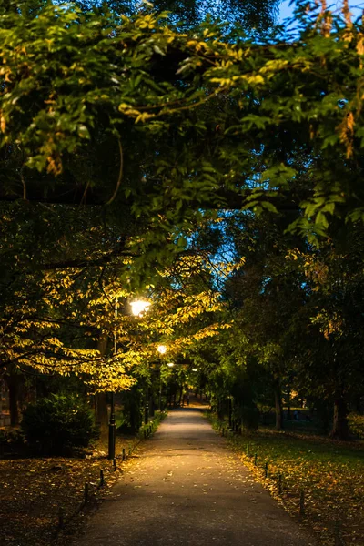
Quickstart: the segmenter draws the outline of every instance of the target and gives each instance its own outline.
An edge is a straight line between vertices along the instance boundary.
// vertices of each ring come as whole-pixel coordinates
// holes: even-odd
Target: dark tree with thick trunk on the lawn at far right
[[[298,346],[298,388],[333,407],[331,436],[347,440],[349,409],[363,387],[363,241],[358,225],[331,232],[319,249],[292,254],[306,272],[310,294],[291,339]]]

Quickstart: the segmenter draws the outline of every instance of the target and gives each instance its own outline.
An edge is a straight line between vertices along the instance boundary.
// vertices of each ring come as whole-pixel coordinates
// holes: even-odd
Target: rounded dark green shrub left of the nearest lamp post
[[[96,436],[86,402],[69,395],[53,394],[29,404],[21,426],[29,444],[43,454],[61,455],[70,448],[87,447]]]

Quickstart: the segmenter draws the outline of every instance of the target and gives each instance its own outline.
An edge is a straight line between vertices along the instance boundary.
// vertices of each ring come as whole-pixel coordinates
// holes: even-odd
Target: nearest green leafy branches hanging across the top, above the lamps
[[[362,28],[348,30],[337,17],[321,32],[322,21],[300,16],[295,41],[278,30],[264,44],[237,30],[224,38],[209,22],[184,34],[153,12],[129,18],[46,5],[35,17],[2,15],[2,147],[14,153],[16,143],[25,166],[47,172],[49,192],[55,176],[71,169],[72,178],[70,155],[84,160],[112,134],[127,142],[134,187],[122,187],[136,214],[174,208],[168,220],[179,227],[189,207],[236,208],[252,180],[292,192],[301,227],[315,217],[324,233],[337,204],[360,218]],[[142,192],[136,168],[150,180]],[[90,176],[104,203],[107,181]],[[244,206],[274,212],[270,198],[258,201]]]

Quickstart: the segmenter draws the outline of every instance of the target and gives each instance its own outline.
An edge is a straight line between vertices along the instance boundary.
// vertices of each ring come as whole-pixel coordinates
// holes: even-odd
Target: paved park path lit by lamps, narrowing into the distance
[[[169,412],[77,546],[309,546],[197,408]]]

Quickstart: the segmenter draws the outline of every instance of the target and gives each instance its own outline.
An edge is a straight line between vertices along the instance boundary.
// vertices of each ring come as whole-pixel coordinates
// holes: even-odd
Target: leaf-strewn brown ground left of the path
[[[117,439],[116,453],[133,440]],[[0,460],[0,544],[2,546],[49,546],[59,531],[63,511],[66,531],[75,531],[76,517],[89,484],[90,501],[105,496],[119,472],[106,459],[106,440],[99,440],[85,459],[43,458]],[[120,469],[121,458],[116,460]],[[100,488],[100,470],[105,485]],[[62,541],[61,541],[62,542]]]

